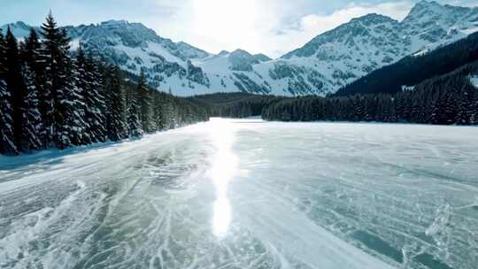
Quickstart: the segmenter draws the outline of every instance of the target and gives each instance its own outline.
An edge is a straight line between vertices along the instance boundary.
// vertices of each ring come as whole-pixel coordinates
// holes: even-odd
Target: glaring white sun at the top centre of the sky
[[[197,35],[247,35],[257,16],[255,0],[193,0]]]

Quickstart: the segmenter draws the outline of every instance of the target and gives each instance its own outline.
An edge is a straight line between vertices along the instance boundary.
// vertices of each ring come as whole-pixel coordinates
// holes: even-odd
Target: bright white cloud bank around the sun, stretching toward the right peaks
[[[181,0],[181,4],[168,0],[165,4],[161,0],[163,7],[171,5],[175,12],[167,18],[147,17],[140,21],[153,27],[159,35],[189,42],[213,53],[244,49],[276,58],[303,46],[316,35],[368,13],[404,19],[416,2],[385,1],[389,2],[351,3],[320,14],[330,4],[310,0]],[[457,4],[470,2],[474,1]]]

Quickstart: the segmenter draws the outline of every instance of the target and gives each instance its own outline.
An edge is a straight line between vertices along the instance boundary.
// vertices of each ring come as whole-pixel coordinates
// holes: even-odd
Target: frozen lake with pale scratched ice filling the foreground
[[[0,268],[478,265],[478,127],[211,122],[0,157]]]

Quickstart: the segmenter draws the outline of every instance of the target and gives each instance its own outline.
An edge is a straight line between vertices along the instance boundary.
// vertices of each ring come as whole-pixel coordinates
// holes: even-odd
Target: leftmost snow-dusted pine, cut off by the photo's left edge
[[[0,154],[17,155],[19,151],[13,142],[12,96],[7,90],[6,47],[0,30]]]

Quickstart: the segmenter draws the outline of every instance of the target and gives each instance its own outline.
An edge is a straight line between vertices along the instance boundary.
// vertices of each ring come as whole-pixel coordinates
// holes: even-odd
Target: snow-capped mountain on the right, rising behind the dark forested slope
[[[478,9],[422,1],[403,21],[368,14],[312,39],[282,59],[315,66],[334,92],[374,69],[457,41],[478,30]]]

